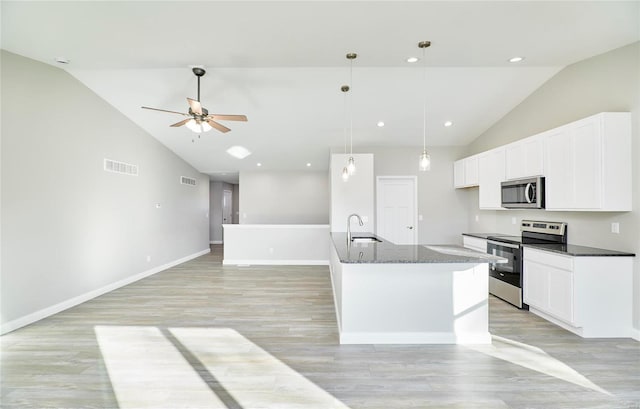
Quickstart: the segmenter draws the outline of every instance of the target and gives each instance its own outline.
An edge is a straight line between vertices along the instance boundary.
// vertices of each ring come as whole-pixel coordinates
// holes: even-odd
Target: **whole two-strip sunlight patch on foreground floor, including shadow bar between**
[[[123,409],[349,409],[233,329],[94,331]]]

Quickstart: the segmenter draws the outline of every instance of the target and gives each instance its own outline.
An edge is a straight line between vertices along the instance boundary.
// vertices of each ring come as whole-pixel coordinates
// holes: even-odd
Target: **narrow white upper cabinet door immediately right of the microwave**
[[[545,137],[545,200],[547,209],[571,209],[575,205],[573,138],[568,128]]]

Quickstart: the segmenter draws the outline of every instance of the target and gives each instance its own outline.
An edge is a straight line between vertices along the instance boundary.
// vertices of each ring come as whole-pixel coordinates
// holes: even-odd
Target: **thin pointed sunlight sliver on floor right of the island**
[[[613,396],[611,393],[591,382],[584,375],[581,375],[575,369],[550,356],[538,347],[499,337],[497,335],[493,335],[492,338],[493,343],[491,345],[466,345],[466,347],[494,358],[502,359],[504,361],[553,376],[554,378],[571,382],[583,388]]]

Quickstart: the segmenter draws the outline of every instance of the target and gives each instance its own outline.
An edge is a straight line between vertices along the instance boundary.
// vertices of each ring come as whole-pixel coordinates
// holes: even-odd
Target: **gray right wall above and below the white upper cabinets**
[[[480,135],[464,155],[518,140],[603,111],[632,113],[633,211],[545,212],[477,209],[477,189],[470,196],[472,231],[517,233],[522,218],[566,221],[569,242],[630,251],[634,260],[634,325],[640,330],[640,43],[610,51],[560,71],[519,106]],[[475,203],[473,202],[475,201]],[[475,215],[479,221],[475,222]],[[611,233],[611,222],[620,234]]]

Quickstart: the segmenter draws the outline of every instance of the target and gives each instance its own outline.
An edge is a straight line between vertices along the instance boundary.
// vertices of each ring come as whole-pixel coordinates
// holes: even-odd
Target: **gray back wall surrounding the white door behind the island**
[[[374,177],[418,177],[418,214],[423,217],[418,221],[418,243],[459,243],[460,235],[468,230],[468,193],[453,189],[453,162],[461,149],[430,148],[431,170],[420,172],[418,158],[422,147],[362,148],[374,154]]]

